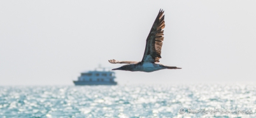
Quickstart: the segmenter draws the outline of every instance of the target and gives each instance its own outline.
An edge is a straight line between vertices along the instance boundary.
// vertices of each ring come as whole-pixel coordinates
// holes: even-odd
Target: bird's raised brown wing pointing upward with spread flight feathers
[[[164,11],[160,10],[146,38],[146,48],[141,62],[159,62],[164,41]]]

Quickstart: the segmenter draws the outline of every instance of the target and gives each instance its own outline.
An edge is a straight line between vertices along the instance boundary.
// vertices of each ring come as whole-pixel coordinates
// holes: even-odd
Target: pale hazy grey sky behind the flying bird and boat
[[[256,1],[0,1],[0,85],[73,85],[80,72],[141,61],[160,8],[160,63],[120,84],[256,83]]]

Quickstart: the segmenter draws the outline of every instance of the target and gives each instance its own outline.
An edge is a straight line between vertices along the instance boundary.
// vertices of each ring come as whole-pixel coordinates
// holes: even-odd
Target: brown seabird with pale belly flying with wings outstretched
[[[164,41],[164,11],[160,9],[155,22],[146,38],[146,48],[141,62],[132,61],[117,61],[108,60],[110,63],[129,63],[117,69],[112,70],[127,70],[127,71],[141,71],[153,72],[162,69],[181,69],[178,67],[169,67],[162,65],[159,62],[161,58],[162,41]]]

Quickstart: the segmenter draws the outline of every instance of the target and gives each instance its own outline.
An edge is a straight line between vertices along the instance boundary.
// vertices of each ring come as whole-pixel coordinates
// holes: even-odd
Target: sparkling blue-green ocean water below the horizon
[[[0,117],[256,117],[254,85],[1,86]]]

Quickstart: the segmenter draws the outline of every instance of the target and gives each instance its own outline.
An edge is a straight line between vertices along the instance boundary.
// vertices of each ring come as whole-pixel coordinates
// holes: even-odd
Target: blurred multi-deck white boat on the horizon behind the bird
[[[115,82],[115,72],[106,70],[100,65],[95,70],[82,72],[77,81],[73,81],[76,86],[83,85],[117,85]]]

